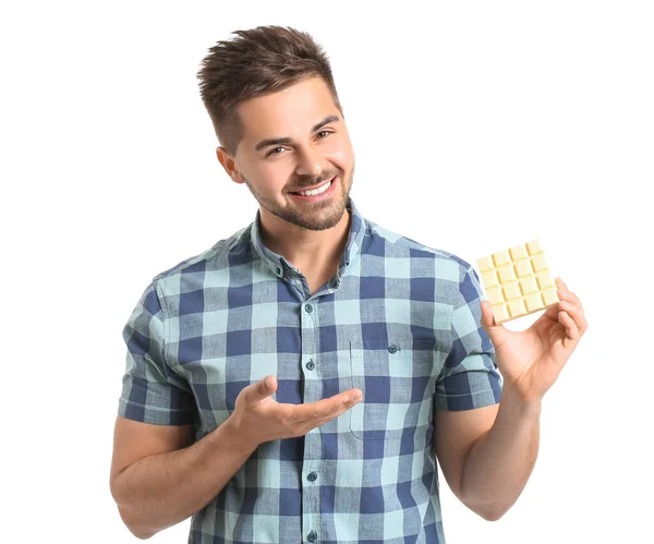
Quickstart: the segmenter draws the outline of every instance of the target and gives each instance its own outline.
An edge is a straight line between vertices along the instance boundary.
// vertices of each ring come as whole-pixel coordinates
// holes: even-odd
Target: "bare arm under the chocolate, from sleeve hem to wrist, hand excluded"
[[[541,403],[523,403],[505,387],[501,402],[437,411],[436,451],[455,495],[488,521],[516,503],[538,451]]]

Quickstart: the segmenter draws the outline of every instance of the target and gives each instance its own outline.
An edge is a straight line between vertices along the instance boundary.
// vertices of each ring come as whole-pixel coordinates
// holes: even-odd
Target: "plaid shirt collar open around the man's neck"
[[[338,271],[336,273],[337,282],[340,281],[340,277],[344,273],[346,268],[354,261],[354,258],[361,253],[363,245],[363,237],[365,234],[365,219],[354,205],[352,197],[348,197],[347,209],[350,210],[350,235],[348,237],[348,243],[341,255],[340,263],[338,265]],[[269,250],[263,242],[261,235],[261,209],[256,210],[256,217],[250,228],[250,240],[254,245],[256,253],[259,255],[262,261],[272,270],[277,277],[283,276],[284,266],[299,271],[291,263],[289,263],[283,255],[275,253]]]

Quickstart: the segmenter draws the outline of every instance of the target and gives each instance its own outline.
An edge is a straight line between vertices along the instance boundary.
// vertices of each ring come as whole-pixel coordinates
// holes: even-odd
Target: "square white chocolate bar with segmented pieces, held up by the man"
[[[477,265],[498,325],[559,302],[538,240],[477,258]]]

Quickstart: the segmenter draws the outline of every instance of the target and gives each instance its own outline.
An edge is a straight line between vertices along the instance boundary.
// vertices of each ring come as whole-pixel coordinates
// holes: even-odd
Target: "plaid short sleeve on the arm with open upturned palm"
[[[193,423],[191,388],[166,362],[166,323],[154,282],[141,295],[122,335],[128,353],[119,415],[157,425]]]

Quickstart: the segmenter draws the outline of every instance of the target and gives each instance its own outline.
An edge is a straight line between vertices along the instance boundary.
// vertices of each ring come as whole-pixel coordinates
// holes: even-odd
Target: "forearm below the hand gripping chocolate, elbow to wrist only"
[[[461,483],[464,503],[485,519],[499,519],[516,503],[536,461],[541,403],[502,391],[495,423],[470,450]]]

